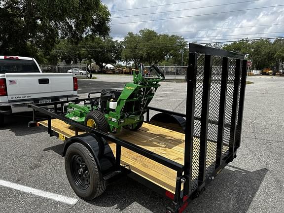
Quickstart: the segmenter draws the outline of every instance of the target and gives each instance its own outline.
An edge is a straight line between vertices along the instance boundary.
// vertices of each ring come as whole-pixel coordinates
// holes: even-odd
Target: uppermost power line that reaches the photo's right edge
[[[169,19],[189,18],[189,17],[196,17],[196,16],[216,15],[216,14],[240,12],[240,11],[256,10],[256,9],[264,9],[264,8],[279,7],[279,6],[284,6],[284,4],[274,5],[274,6],[266,6],[266,7],[256,7],[256,8],[249,8],[249,9],[241,9],[241,10],[232,10],[232,11],[225,11],[225,12],[216,12],[216,13],[207,13],[207,14],[199,14],[199,15],[173,17],[173,18],[152,19],[152,20],[135,21],[135,22],[122,22],[122,23],[115,23],[115,24],[110,24],[110,25],[134,24],[134,23],[151,22],[151,21],[162,21],[162,20],[169,20]]]

